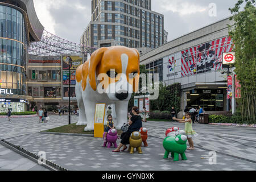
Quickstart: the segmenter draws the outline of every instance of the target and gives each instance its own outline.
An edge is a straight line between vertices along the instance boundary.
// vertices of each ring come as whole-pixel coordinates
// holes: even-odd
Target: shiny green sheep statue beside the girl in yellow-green
[[[179,154],[182,160],[187,160],[185,151],[187,150],[187,137],[185,135],[177,135],[176,137],[166,137],[163,140],[163,147],[166,150],[164,159],[168,158],[171,152],[171,157],[174,161],[179,161]]]

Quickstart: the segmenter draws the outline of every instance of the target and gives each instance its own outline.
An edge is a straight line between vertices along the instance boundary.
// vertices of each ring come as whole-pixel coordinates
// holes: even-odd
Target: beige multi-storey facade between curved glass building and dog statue
[[[71,76],[67,58],[72,58]],[[46,110],[68,109],[68,84],[71,80],[71,109],[77,108],[75,96],[76,68],[83,63],[83,56],[35,56],[28,59],[28,96],[38,108]]]

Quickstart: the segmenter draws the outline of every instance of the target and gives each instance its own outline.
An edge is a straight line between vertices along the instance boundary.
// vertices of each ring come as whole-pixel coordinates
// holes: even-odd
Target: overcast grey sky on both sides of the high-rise
[[[237,0],[152,0],[152,11],[164,15],[164,29],[168,32],[170,41],[230,16],[228,9],[234,7],[236,2]],[[82,32],[91,20],[90,0],[34,0],[34,4],[38,18],[47,31],[80,43]]]

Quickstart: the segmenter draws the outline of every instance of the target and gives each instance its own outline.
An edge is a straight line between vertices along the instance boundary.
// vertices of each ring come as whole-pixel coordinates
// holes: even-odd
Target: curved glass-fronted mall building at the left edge
[[[0,112],[28,109],[27,47],[43,30],[32,0],[0,2]]]

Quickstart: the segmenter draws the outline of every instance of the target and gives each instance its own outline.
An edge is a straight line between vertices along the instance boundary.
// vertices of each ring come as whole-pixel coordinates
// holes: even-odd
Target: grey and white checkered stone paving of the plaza
[[[162,142],[166,129],[173,126],[184,129],[183,123],[152,121],[143,123],[150,136],[147,140],[148,147],[142,147],[143,154],[129,154],[127,151],[113,153],[114,148],[101,147],[101,138],[39,133],[68,123],[67,115],[51,115],[50,118],[51,121],[48,123],[39,123],[38,118],[26,120],[16,118],[12,119],[11,123],[7,119],[0,119],[1,139],[34,154],[44,151],[47,160],[69,170],[230,171],[256,169],[255,128],[195,123],[193,129],[199,134],[194,140],[196,150],[185,153],[188,160],[174,162],[171,158],[163,159]],[[77,117],[72,116],[72,123],[76,121]],[[118,143],[119,141],[120,139]],[[210,151],[217,152],[217,164],[209,164]],[[47,170],[1,145],[0,162],[0,170]],[[15,162],[16,166],[10,165]]]

